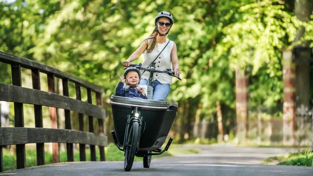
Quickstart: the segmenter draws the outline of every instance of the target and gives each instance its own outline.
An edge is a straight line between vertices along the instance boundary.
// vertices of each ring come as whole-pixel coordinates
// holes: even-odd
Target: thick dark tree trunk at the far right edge
[[[312,15],[312,11],[312,0],[294,1],[294,13],[300,21],[309,22],[311,20],[310,16]],[[296,44],[293,48],[293,59],[295,63],[295,124],[297,125],[296,129],[299,129],[299,132],[296,132],[297,134],[299,133],[299,135],[296,136],[299,144],[302,138],[308,137],[304,129],[310,129],[310,124],[305,122],[310,121],[310,57],[312,48],[309,47],[309,41],[300,42],[304,33],[304,27],[298,28],[296,38],[293,41],[293,43]]]

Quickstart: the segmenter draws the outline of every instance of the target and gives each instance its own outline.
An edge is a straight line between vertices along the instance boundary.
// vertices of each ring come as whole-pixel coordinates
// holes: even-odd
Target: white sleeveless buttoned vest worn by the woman
[[[168,41],[169,39],[166,39],[165,43],[156,44],[156,47],[150,53],[148,53],[147,50],[145,50],[143,52],[142,67],[148,67],[152,63],[152,61],[156,59],[156,56],[162,51],[162,49],[168,43]],[[157,57],[155,61],[157,70],[165,70],[167,68],[170,68],[171,70],[173,70],[172,59],[171,59],[171,52],[172,52],[173,44],[174,42],[170,41],[170,43],[165,47],[162,53]],[[143,71],[141,71],[141,74],[142,73]],[[149,80],[149,75],[150,73],[148,71],[145,71],[144,74],[141,75],[141,78]],[[153,79],[159,81],[162,84],[172,83],[172,76],[166,73],[155,73],[153,76]]]

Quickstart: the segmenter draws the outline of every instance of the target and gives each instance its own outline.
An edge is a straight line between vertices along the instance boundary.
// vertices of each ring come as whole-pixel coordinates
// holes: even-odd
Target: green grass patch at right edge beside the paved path
[[[292,166],[312,166],[313,152],[309,149],[290,153],[286,156],[268,157],[263,164],[277,163],[278,165],[292,165]]]

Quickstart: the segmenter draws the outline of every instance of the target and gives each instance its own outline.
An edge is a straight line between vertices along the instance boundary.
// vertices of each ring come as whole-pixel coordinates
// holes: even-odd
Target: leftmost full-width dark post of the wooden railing
[[[11,65],[13,86],[22,86],[21,65]],[[23,104],[14,102],[14,127],[24,127]],[[25,144],[16,145],[17,169],[25,168]]]

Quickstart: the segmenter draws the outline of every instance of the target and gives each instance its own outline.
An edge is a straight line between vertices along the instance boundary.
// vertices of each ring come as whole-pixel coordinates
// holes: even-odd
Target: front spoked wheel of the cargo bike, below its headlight
[[[133,166],[134,157],[138,144],[139,123],[134,121],[130,128],[125,149],[124,170],[130,171]]]

